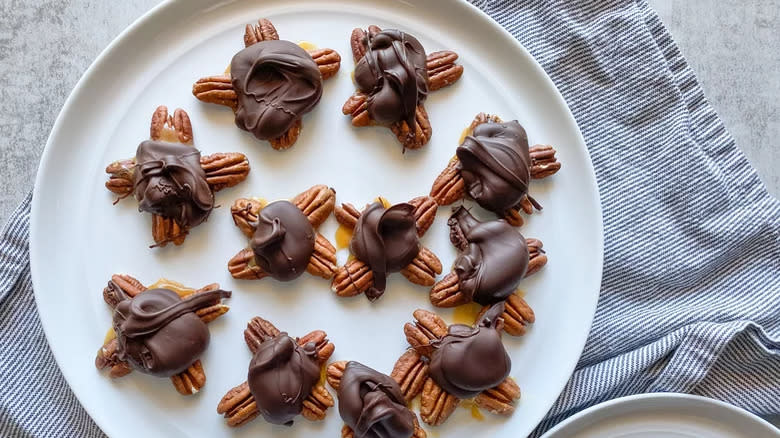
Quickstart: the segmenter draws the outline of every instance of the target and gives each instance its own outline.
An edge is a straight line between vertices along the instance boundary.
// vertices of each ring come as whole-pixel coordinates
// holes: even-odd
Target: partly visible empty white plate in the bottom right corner
[[[690,394],[656,393],[601,403],[542,438],[778,438],[767,421],[736,406]]]

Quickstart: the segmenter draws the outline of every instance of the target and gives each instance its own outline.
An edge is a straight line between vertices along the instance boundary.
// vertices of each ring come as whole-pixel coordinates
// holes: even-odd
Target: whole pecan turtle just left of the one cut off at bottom
[[[325,418],[334,403],[320,375],[335,346],[324,331],[292,338],[271,322],[254,317],[244,340],[252,353],[247,380],[217,405],[228,426],[243,426],[259,415],[285,426],[292,426],[298,415],[311,421]]]

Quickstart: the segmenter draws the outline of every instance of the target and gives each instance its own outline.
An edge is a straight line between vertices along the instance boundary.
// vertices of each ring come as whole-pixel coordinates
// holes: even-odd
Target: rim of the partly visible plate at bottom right
[[[772,425],[772,423],[764,420],[747,409],[741,408],[731,403],[695,394],[685,394],[680,392],[650,392],[615,398],[591,406],[556,424],[555,427],[545,432],[541,438],[555,438],[555,434],[566,432],[566,428],[568,427],[577,427],[577,423],[585,421],[588,417],[595,417],[598,414],[601,414],[603,416],[602,418],[609,418],[610,411],[618,407],[632,404],[642,405],[643,403],[653,401],[664,402],[669,400],[690,401],[691,406],[694,407],[699,406],[728,410],[731,413],[738,414],[745,419],[753,421],[757,427],[763,427],[768,432],[774,431],[776,436],[780,437],[780,429],[776,428],[774,425]]]

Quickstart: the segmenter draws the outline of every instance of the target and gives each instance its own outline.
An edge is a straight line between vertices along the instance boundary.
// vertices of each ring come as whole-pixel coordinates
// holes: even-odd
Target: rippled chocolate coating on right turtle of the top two
[[[355,83],[368,95],[368,114],[385,125],[405,120],[414,132],[417,105],[428,96],[425,49],[417,38],[395,29],[366,33],[366,38]]]

